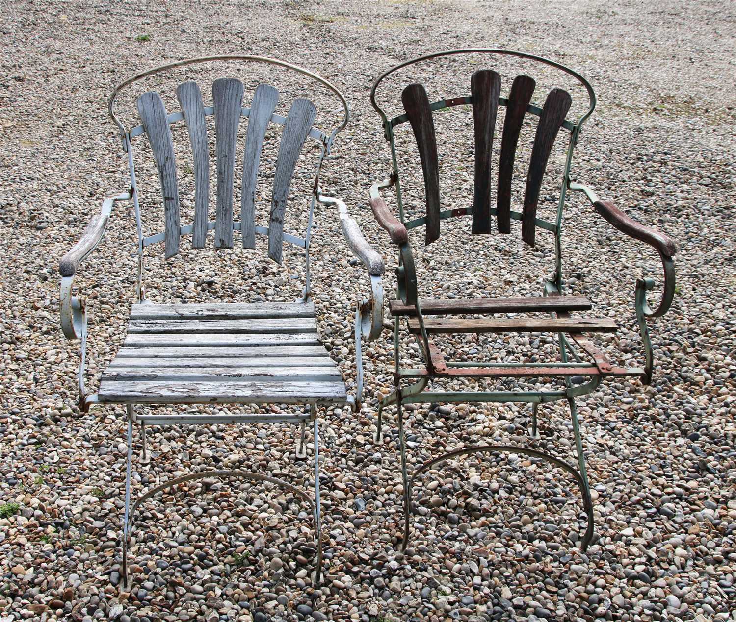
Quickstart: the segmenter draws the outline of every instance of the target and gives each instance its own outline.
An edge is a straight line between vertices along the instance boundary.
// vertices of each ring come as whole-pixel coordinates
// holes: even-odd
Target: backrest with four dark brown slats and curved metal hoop
[[[389,118],[376,101],[376,92],[379,85],[394,72],[422,61],[430,61],[440,57],[455,56],[457,54],[483,54],[482,62],[492,65],[492,57],[518,57],[548,65],[556,70],[572,76],[579,85],[587,91],[587,108],[576,121],[567,121],[566,115],[570,111],[572,98],[566,90],[553,88],[545,97],[542,107],[533,102],[536,82],[534,78],[520,74],[514,77],[508,95],[502,96],[504,85],[501,76],[492,68],[481,68],[472,76],[467,76],[467,87],[470,94],[439,99],[431,102],[425,87],[422,84],[409,84],[401,91],[401,103],[404,113]],[[565,189],[572,162],[573,149],[584,121],[590,116],[595,107],[595,93],[590,84],[579,74],[564,65],[551,60],[522,52],[498,49],[465,49],[444,51],[429,54],[424,57],[409,60],[397,65],[382,74],[374,83],[371,90],[371,103],[383,119],[386,139],[391,143],[394,176],[397,180],[397,200],[403,220],[403,205],[401,204],[400,171],[397,165],[396,144],[394,143],[394,129],[407,121],[414,132],[417,143],[422,176],[424,178],[424,192],[426,201],[426,215],[417,218],[407,225],[425,225],[425,243],[429,244],[439,238],[440,221],[458,215],[473,216],[473,234],[488,234],[492,232],[492,216],[495,215],[496,227],[500,233],[511,232],[512,219],[522,221],[522,238],[531,246],[535,244],[535,232],[538,227],[556,232],[562,219],[562,204],[565,201]],[[440,207],[439,193],[439,159],[437,153],[437,137],[435,133],[435,118],[437,112],[448,108],[466,106],[473,111],[473,128],[475,141],[474,192],[473,207],[461,207],[443,212]],[[492,201],[492,155],[493,140],[496,130],[498,108],[505,107],[503,119],[503,134],[500,140],[498,154],[498,173],[496,175],[495,207]],[[538,117],[534,143],[526,172],[526,188],[523,197],[523,211],[512,210],[512,181],[514,178],[514,163],[517,159],[517,145],[520,142],[520,132],[525,120]],[[555,222],[543,221],[537,218],[539,191],[542,187],[542,178],[548,165],[556,137],[560,130],[570,132],[567,148],[565,171],[562,179],[559,209]],[[470,201],[468,201],[470,202]]]

